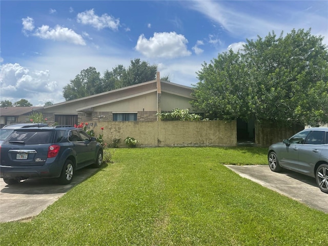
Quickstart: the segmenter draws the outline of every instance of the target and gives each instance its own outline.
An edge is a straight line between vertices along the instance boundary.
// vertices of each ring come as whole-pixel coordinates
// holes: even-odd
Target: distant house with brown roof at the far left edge
[[[38,110],[42,107],[4,107],[0,108],[0,124],[1,128],[8,124],[18,122],[28,122],[29,115],[33,110]]]

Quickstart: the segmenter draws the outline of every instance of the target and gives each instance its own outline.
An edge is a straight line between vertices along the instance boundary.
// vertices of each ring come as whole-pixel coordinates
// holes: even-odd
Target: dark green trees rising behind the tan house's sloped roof
[[[94,67],[89,67],[70,80],[70,84],[63,88],[63,96],[68,101],[144,83],[155,79],[156,72],[157,65],[149,65],[139,58],[131,60],[131,65],[127,69],[123,65],[118,65],[112,71],[106,70],[103,77]],[[166,79],[169,79],[168,76]]]

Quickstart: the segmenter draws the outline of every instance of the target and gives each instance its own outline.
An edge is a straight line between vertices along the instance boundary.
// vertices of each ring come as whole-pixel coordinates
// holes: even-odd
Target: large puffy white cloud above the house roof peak
[[[135,49],[147,57],[175,58],[191,55],[187,43],[187,38],[176,32],[155,32],[149,39],[141,34]]]

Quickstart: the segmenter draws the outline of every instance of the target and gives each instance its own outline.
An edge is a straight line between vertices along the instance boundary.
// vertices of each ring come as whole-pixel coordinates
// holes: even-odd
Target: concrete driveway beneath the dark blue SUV
[[[65,186],[58,185],[54,179],[27,179],[8,186],[0,178],[0,222],[29,219],[39,214],[97,171],[89,167],[77,170],[73,181]]]

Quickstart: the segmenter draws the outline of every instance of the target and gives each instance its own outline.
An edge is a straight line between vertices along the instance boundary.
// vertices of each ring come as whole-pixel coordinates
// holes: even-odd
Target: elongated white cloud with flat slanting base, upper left
[[[38,27],[33,35],[43,39],[65,41],[75,45],[86,45],[86,42],[81,35],[77,34],[72,29],[58,25],[55,26],[55,28],[50,28],[49,26],[43,25],[42,27]]]

